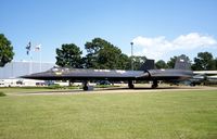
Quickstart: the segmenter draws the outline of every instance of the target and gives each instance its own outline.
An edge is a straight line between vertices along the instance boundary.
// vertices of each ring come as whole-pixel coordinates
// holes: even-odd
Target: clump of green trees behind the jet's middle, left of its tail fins
[[[56,49],[56,65],[69,66],[74,68],[95,68],[95,70],[131,70],[131,60],[133,59],[133,68],[139,67],[145,62],[145,56],[128,56],[119,48],[111,42],[94,38],[85,43],[87,54],[75,43],[62,45]]]

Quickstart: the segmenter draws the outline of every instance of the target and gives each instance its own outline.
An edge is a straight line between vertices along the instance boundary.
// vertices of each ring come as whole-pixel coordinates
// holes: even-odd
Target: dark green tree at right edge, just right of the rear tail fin
[[[197,53],[197,58],[194,58],[194,64],[192,65],[192,70],[194,71],[209,71],[215,70],[215,60],[213,54],[209,52],[200,52]]]

